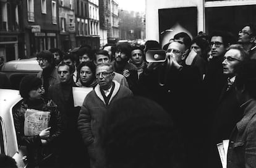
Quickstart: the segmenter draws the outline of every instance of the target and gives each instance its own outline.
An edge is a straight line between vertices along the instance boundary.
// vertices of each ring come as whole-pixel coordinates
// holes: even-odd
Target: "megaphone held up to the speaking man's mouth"
[[[165,62],[166,61],[166,52],[162,49],[148,50],[146,52],[145,58],[146,58],[147,62]]]

